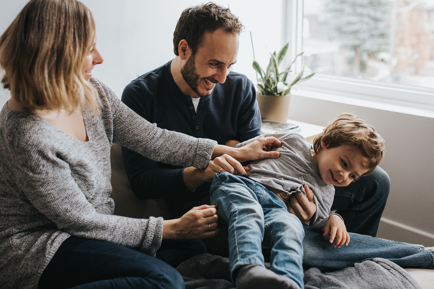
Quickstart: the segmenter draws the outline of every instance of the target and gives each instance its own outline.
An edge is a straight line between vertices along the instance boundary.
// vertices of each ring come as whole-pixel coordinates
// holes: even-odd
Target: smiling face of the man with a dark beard
[[[199,97],[210,95],[217,83],[224,83],[231,65],[237,62],[240,37],[220,28],[206,32],[201,45],[181,68],[181,75]]]

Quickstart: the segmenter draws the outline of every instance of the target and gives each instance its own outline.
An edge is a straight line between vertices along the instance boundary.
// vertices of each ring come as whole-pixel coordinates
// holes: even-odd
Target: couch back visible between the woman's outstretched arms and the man
[[[171,219],[170,210],[164,200],[139,200],[132,192],[122,161],[121,146],[112,144],[112,195],[115,200],[115,215],[147,219],[150,216]]]

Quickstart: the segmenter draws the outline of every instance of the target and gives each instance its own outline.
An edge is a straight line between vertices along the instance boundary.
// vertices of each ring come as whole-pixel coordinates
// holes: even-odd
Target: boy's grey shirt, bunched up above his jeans
[[[316,212],[309,224],[324,230],[329,219],[335,188],[322,180],[319,169],[312,159],[311,146],[304,137],[289,131],[266,133],[239,143],[236,147],[244,146],[258,137],[267,136],[274,136],[282,142],[282,147],[274,149],[280,153],[280,156],[277,159],[260,159],[251,162],[247,166],[250,168],[248,172],[250,179],[268,188],[287,192],[288,195],[302,193],[306,196],[303,185],[308,185],[313,191],[316,204]]]

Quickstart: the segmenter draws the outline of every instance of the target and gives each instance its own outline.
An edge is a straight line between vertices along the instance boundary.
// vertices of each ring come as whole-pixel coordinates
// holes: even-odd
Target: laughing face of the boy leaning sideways
[[[353,146],[327,148],[324,141],[313,157],[322,180],[329,185],[345,187],[368,172],[368,159]]]

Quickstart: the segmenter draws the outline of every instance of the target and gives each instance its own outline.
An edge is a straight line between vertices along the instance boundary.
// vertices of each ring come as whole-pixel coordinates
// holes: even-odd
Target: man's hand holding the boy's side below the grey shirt
[[[290,197],[290,203],[286,204],[286,207],[289,213],[296,215],[300,221],[306,222],[315,214],[316,205],[313,202],[312,190],[307,185],[303,187],[307,197],[302,194],[295,194]]]

